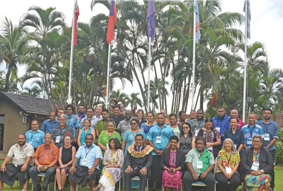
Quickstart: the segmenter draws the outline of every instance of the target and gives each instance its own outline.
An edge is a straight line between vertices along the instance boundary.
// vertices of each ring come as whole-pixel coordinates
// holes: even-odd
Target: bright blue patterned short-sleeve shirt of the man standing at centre
[[[159,128],[157,124],[151,127],[147,139],[151,140],[154,147],[157,150],[164,150],[166,149],[169,139],[171,136],[174,135],[173,130],[168,125],[164,124],[162,128]],[[161,143],[156,143],[157,136],[161,136]],[[157,155],[156,152],[152,151],[152,155]]]

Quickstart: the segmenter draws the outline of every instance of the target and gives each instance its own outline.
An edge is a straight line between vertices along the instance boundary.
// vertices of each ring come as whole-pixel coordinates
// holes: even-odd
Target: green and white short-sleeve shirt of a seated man
[[[202,161],[203,162],[203,168],[198,169],[197,168],[197,162]],[[199,176],[201,173],[206,171],[210,165],[215,164],[215,160],[213,157],[213,154],[209,152],[207,149],[204,150],[202,155],[199,154],[197,149],[191,149],[189,153],[187,154],[185,163],[191,163],[195,173]]]

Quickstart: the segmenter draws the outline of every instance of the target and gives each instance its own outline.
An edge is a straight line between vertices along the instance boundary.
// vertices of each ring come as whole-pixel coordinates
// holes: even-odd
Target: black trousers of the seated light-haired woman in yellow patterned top
[[[215,174],[215,180],[223,191],[236,191],[241,183],[239,174],[233,174],[232,177],[228,179],[222,172]],[[228,181],[230,181],[231,184],[228,184]]]

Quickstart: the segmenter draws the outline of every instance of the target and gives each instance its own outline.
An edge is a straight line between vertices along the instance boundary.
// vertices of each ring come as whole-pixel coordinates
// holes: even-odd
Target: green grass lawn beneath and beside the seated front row
[[[2,164],[2,162],[3,162],[3,160],[0,160],[0,164]],[[283,167],[275,167],[275,189],[274,189],[274,191],[282,191],[282,188],[283,188],[282,177],[283,177]],[[28,191],[31,191],[31,189],[32,189],[32,181],[30,180],[29,186],[28,186]],[[49,191],[53,191],[53,189],[54,189],[54,182],[49,184]],[[57,189],[58,188],[56,188],[56,190]],[[20,186],[17,186],[17,182],[15,182],[15,184],[12,188],[9,188],[9,186],[4,184],[4,190],[21,191],[21,188],[20,188]],[[68,187],[66,187],[64,190],[70,191],[70,185],[68,185]],[[121,188],[121,191],[122,190],[123,189]],[[78,191],[88,191],[88,190],[86,189],[86,187],[83,187],[82,189],[78,189]]]

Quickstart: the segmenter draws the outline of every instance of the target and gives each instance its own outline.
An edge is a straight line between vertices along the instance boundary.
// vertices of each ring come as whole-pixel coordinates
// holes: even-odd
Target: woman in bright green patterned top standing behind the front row
[[[107,130],[102,131],[99,135],[97,146],[100,147],[102,154],[104,155],[104,152],[109,149],[109,141],[111,138],[117,138],[119,142],[121,143],[121,136],[118,132],[115,131],[116,125],[115,122],[109,121],[107,124]]]

